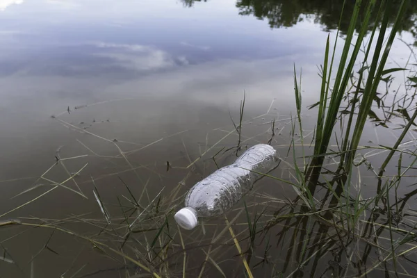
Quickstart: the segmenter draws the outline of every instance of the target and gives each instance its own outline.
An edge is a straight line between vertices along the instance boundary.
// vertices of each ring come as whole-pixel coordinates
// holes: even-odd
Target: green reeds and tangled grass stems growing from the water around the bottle
[[[253,6],[270,2],[258,1]],[[282,2],[281,7],[290,5],[290,2]],[[188,181],[196,167],[203,167],[205,173],[212,171],[222,166],[219,161],[223,158],[239,154],[245,145],[258,140],[256,136],[245,136],[245,126],[272,113],[268,109],[265,114],[246,120],[245,97],[240,102],[238,121],[232,117],[229,129],[216,129],[221,134],[219,140],[208,144],[206,139],[197,154],[188,152],[187,146],[183,145],[186,153],[183,158],[188,162],[167,162],[167,172],[177,171],[183,177],[172,189],[149,188],[148,181],[139,173],[142,170],[152,172],[149,165],[136,165],[131,156],[183,131],[123,151],[119,140],[98,136],[62,120],[60,116],[66,113],[64,111],[54,120],[108,143],[117,154],[97,154],[82,142],[80,144],[88,154],[62,158],[58,150],[55,163],[38,179],[47,182],[49,189],[1,213],[1,217],[38,201],[56,188],[70,190],[85,198],[81,183],[74,177],[86,164],[70,173],[67,163],[71,161],[93,156],[123,161],[126,169],[83,181],[92,185],[92,200],[97,204],[95,214],[72,215],[60,220],[19,218],[0,222],[1,229],[17,226],[10,229],[36,227],[54,231],[38,254],[55,252],[50,242],[58,233],[83,240],[92,252],[116,263],[117,271],[123,277],[415,277],[416,211],[407,202],[413,199],[417,190],[411,190],[403,197],[398,197],[398,190],[416,184],[416,141],[404,142],[404,139],[416,126],[417,78],[409,75],[409,69],[415,66],[412,63],[407,62],[405,67],[386,67],[395,34],[409,19],[407,2],[357,0],[354,6],[333,7],[343,11],[339,14],[338,26],[344,30],[345,38],[341,42],[336,35],[332,38],[333,45],[331,38],[323,42],[320,99],[310,106],[311,111],[317,112],[313,131],[303,127],[302,74],[294,68],[295,115],[289,119],[273,118],[268,129],[257,135],[262,138],[268,135],[270,144],[274,145],[276,130],[290,127],[291,142],[275,145],[281,150],[286,149],[286,156],[281,152],[281,174],[265,174],[261,183],[291,188],[295,192],[293,199],[259,193],[261,190],[256,189],[242,204],[224,215],[224,220],[204,222],[190,232],[181,230],[172,220],[173,213],[182,205],[183,195],[190,187]],[[245,3],[240,1],[238,6],[252,5],[252,1]],[[318,1],[291,3],[291,6],[299,4],[303,8],[308,8],[309,3],[319,5]],[[327,1],[320,2],[320,7],[326,5],[332,6]],[[259,8],[254,9],[259,11]],[[303,10],[300,13],[304,13]],[[277,24],[297,22],[300,13]],[[346,18],[350,19],[347,25]],[[368,26],[372,25],[369,30]],[[336,53],[336,45],[341,43],[343,49]],[[410,57],[417,60],[412,51]],[[391,81],[395,74],[405,76],[404,92],[396,90],[393,95]],[[382,93],[382,90],[386,92]],[[391,146],[368,142],[363,134],[373,125],[397,136],[396,142]],[[412,134],[409,138],[413,138]],[[231,140],[236,144],[235,139],[236,147],[227,149],[222,145]],[[375,156],[378,157],[377,165],[372,160]],[[49,177],[57,168],[67,173],[67,179],[54,181]],[[126,172],[137,178],[139,186],[125,183],[122,175]],[[117,202],[105,199],[97,186],[97,181],[111,176],[119,177],[124,188],[116,194]],[[365,186],[365,180],[375,185]],[[69,183],[74,184],[70,187]],[[186,183],[187,187],[184,186]],[[40,187],[38,181],[34,184],[37,185],[22,194]],[[74,229],[74,224],[79,226]],[[88,233],[80,227],[88,227]],[[2,251],[0,259],[14,263],[6,248]],[[71,266],[65,274],[83,277],[78,273],[84,267],[83,263]]]

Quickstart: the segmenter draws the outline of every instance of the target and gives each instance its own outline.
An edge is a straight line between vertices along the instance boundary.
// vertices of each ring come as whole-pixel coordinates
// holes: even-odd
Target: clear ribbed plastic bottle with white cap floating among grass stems
[[[222,215],[236,204],[254,182],[277,166],[277,151],[270,145],[254,145],[235,163],[220,168],[191,188],[174,216],[183,229],[194,229],[198,218]]]

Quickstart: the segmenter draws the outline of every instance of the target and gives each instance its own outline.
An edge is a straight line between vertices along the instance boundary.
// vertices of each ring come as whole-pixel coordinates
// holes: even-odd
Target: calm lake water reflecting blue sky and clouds
[[[108,240],[106,244],[117,249],[124,234],[108,231],[93,190],[113,224],[122,223],[132,206],[124,183],[141,206],[154,204],[160,196],[180,204],[175,197],[215,170],[215,163],[227,165],[236,158],[234,151],[224,151],[238,141],[231,119],[239,121],[244,95],[243,149],[272,138],[281,157],[288,156],[296,113],[293,67],[299,73],[302,69],[305,108],[318,101],[318,65],[327,35],[336,37],[338,2],[343,1],[0,0],[0,221],[21,218],[35,223],[42,218],[44,224]],[[407,10],[403,31],[391,49],[390,67],[417,63],[410,56],[417,40],[416,6]],[[343,21],[342,29],[347,24]],[[315,110],[303,112],[309,140],[315,115]],[[399,133],[370,124],[363,140],[391,146]],[[404,140],[415,145],[415,135]],[[375,157],[370,161],[380,163]],[[393,165],[389,171],[396,170]],[[275,174],[293,178],[285,165]],[[407,183],[414,184],[414,177]],[[372,195],[373,189],[367,186],[363,194]],[[402,188],[399,194],[414,196],[413,190]],[[258,196],[247,199],[252,213],[261,213],[261,206],[254,204],[265,202],[267,195],[279,200],[296,196],[285,183],[270,180],[262,181],[256,192]],[[284,206],[278,199],[266,214]],[[174,227],[170,208],[177,208],[166,204],[166,221]],[[229,220],[233,217],[232,212]],[[247,228],[245,213],[240,218],[234,232],[245,238],[247,231],[238,234]],[[286,250],[302,248],[301,241],[291,242],[291,235],[282,238],[282,224],[268,242],[256,243],[262,250],[252,259],[255,277],[279,277],[280,272],[287,276],[298,267],[297,258]],[[145,277],[137,265],[85,238],[41,227],[1,228],[0,258],[6,258],[0,261],[1,277]],[[224,233],[229,241],[208,247],[223,228],[222,219],[213,220],[204,232],[181,234],[190,252],[187,277],[197,277],[203,267],[202,277],[221,275],[218,267],[227,277],[243,277],[245,268],[229,231]],[[170,256],[161,261],[170,263],[172,272],[166,276],[182,277],[179,232],[163,230],[153,242],[159,227],[152,229],[156,231],[147,236],[145,232],[129,238],[130,249],[124,252],[147,261],[150,252],[139,254],[130,246],[140,250],[161,245],[161,254],[152,253],[161,259],[169,253],[161,238],[171,238]],[[108,235],[100,238],[103,231]],[[314,245],[313,240],[309,244]],[[269,245],[275,266],[260,263]],[[311,262],[295,276],[309,277],[311,272],[331,277],[342,269],[335,270],[326,257],[332,251],[308,254],[325,259]],[[379,259],[372,255],[371,263]],[[380,268],[373,272],[375,277],[384,272]],[[414,263],[402,264],[404,273],[414,269]]]

